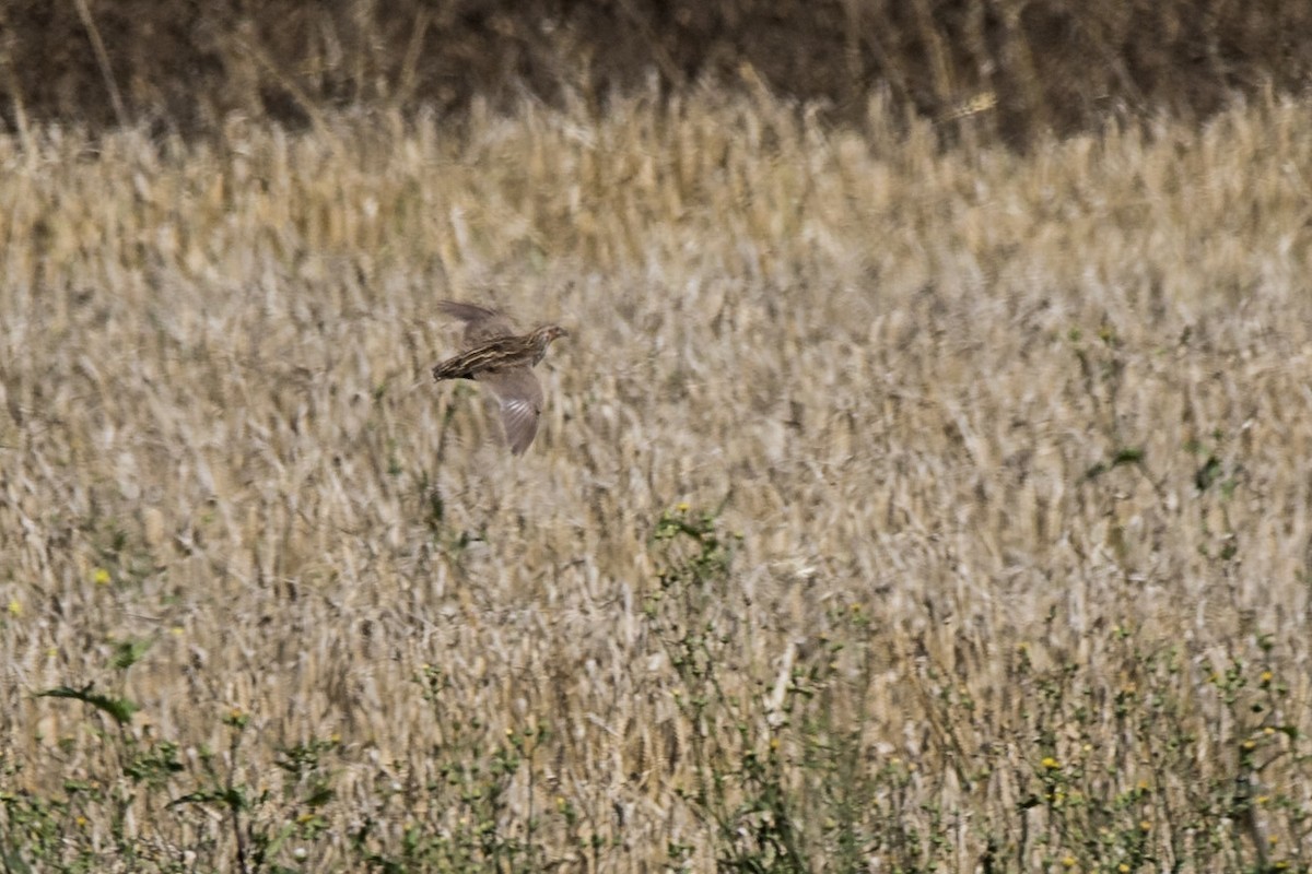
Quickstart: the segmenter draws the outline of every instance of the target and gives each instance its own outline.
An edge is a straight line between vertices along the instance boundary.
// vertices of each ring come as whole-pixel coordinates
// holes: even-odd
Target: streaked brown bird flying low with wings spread
[[[455,300],[438,308],[464,322],[464,351],[433,368],[433,379],[470,379],[487,385],[501,404],[501,426],[513,455],[522,455],[538,432],[542,415],[542,384],[533,367],[547,354],[547,346],[569,332],[559,325],[543,325],[529,334],[516,335],[505,313]]]

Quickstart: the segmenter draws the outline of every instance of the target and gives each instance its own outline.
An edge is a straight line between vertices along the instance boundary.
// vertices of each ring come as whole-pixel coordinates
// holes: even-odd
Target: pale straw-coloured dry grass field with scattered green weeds
[[[0,139],[5,870],[1308,870],[1312,106],[653,106]]]

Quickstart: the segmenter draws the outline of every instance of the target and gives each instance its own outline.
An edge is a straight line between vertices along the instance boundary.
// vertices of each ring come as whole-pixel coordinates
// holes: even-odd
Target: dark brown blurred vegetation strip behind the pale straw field
[[[1013,145],[1109,114],[1207,118],[1312,76],[1307,0],[8,0],[0,124],[67,121],[206,132],[325,106],[463,111],[525,92],[594,106],[655,81],[815,101],[859,123],[899,111]],[[977,134],[977,131],[975,131]]]

